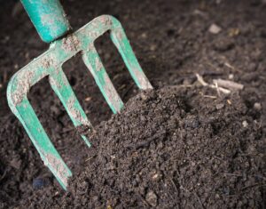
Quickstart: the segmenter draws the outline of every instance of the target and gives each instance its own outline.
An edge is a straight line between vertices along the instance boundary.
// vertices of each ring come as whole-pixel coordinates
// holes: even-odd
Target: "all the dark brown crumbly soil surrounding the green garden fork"
[[[12,74],[47,45],[19,4],[1,2],[0,207],[265,208],[265,3],[68,0],[63,4],[74,29],[100,14],[113,14],[121,20],[153,86],[186,87],[163,89],[160,100],[158,91],[145,94],[147,100],[140,100],[140,94],[121,115],[97,126],[110,118],[111,111],[80,56],[69,60],[66,75],[97,130],[90,136],[94,148],[89,150],[47,80],[36,84],[29,99],[74,172],[70,193],[65,194],[5,96]],[[221,32],[210,33],[212,24]],[[113,44],[107,36],[96,44],[121,98],[129,100],[138,91]],[[232,79],[245,88],[224,98],[223,93],[190,87],[198,84],[195,73],[208,83]],[[121,129],[125,125],[127,130]],[[153,181],[156,174],[159,179]]]

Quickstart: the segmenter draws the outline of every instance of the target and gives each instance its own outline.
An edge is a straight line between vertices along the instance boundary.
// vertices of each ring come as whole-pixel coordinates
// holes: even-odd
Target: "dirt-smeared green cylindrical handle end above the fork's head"
[[[42,40],[47,43],[64,36],[70,29],[59,0],[20,0]]]

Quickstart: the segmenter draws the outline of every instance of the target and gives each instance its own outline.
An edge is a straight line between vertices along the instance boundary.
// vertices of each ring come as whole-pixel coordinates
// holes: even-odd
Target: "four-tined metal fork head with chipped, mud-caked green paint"
[[[34,109],[27,100],[27,92],[32,85],[43,79],[44,76],[48,76],[53,91],[56,92],[59,100],[63,103],[74,126],[86,125],[91,127],[89,119],[76,99],[61,68],[66,60],[71,59],[77,52],[81,52],[82,60],[90,70],[109,107],[113,110],[113,113],[119,112],[123,107],[123,102],[114,89],[94,47],[94,41],[106,31],[111,31],[113,44],[121,53],[121,57],[137,86],[143,90],[153,88],[137,62],[121,23],[109,15],[91,20],[73,34],[54,41],[48,51],[32,60],[12,76],[8,85],[7,99],[12,112],[20,119],[35,148],[41,155],[44,165],[50,168],[64,189],[67,186],[67,178],[72,173],[53,147],[43,129],[43,125],[36,117]],[[81,136],[90,147],[88,139],[82,134]]]

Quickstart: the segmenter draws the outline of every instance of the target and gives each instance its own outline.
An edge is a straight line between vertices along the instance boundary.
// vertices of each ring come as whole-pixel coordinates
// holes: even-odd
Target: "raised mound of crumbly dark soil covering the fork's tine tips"
[[[63,194],[50,186],[21,204],[46,208],[259,208],[265,205],[261,112],[235,92],[202,87],[141,92],[87,133],[93,148]],[[209,97],[207,95],[215,95]]]

